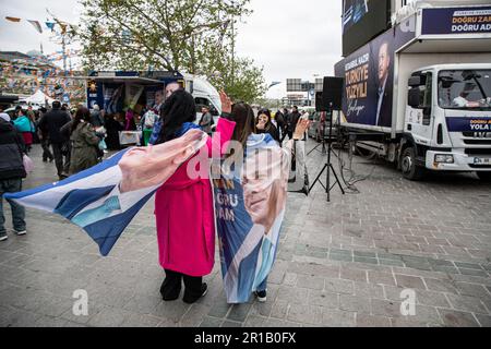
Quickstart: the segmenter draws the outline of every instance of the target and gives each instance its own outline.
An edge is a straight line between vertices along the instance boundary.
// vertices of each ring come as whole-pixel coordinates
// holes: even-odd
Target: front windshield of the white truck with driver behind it
[[[447,70],[439,75],[444,109],[491,110],[491,70]]]

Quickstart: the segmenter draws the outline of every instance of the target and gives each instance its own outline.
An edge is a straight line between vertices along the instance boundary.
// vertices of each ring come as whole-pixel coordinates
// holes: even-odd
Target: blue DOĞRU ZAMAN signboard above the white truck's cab
[[[423,9],[422,35],[491,34],[491,7]]]

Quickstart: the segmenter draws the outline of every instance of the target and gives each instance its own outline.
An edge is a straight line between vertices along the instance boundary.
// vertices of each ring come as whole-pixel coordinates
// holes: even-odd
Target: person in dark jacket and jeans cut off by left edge
[[[22,179],[26,177],[22,161],[25,153],[24,140],[10,122],[7,113],[0,113],[0,241],[8,239],[3,216],[3,194],[22,191]],[[12,225],[17,236],[26,233],[25,209],[7,200],[12,209]]]

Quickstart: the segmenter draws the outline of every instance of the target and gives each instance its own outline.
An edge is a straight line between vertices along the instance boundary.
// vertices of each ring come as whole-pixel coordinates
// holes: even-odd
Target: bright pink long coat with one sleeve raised
[[[223,155],[223,145],[231,140],[233,129],[235,122],[219,119],[214,141],[208,137],[206,144],[208,158],[212,144],[219,144],[217,154]],[[209,179],[190,179],[188,163],[157,191],[155,197],[158,252],[165,269],[199,277],[211,274],[215,264],[215,213]],[[209,168],[209,163],[207,166]]]

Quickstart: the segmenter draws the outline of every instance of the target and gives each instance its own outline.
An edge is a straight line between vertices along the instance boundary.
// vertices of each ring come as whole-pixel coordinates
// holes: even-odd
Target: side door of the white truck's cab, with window
[[[423,82],[412,89],[419,91],[419,103],[408,106],[406,111],[407,131],[412,134],[416,143],[431,145],[433,134],[433,73],[420,72]],[[416,92],[416,91],[415,91]]]

